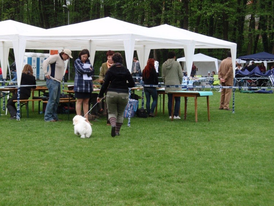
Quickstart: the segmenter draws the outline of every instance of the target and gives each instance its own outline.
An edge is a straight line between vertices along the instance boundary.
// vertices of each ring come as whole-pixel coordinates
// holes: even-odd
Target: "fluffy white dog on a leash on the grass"
[[[74,125],[74,134],[81,135],[81,138],[90,137],[92,133],[92,129],[90,124],[86,122],[86,118],[80,115],[76,115],[73,118],[73,125]]]

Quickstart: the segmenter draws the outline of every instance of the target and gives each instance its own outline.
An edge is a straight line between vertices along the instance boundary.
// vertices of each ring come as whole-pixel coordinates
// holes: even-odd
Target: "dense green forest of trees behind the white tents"
[[[67,5],[68,9],[63,5]],[[67,25],[68,11],[69,24],[103,17],[144,27],[168,24],[237,43],[237,57],[261,51],[274,54],[272,0],[0,0],[0,21],[11,19],[45,29]],[[112,28],[112,25],[102,26]],[[83,29],[90,29],[91,33],[93,30]],[[172,50],[176,52],[176,58],[184,57],[183,49]],[[162,65],[168,51],[151,50],[149,58],[154,57]],[[26,52],[49,53],[44,50]],[[120,52],[123,54],[123,51]],[[222,60],[227,52],[225,49],[195,49],[195,54],[198,53]],[[106,62],[105,54],[106,51],[96,51],[95,75],[99,74],[101,64]],[[76,58],[78,51],[73,51],[73,56]],[[137,54],[134,53],[134,56]],[[9,63],[13,60],[13,49],[10,49]],[[70,61],[72,73],[73,62]]]

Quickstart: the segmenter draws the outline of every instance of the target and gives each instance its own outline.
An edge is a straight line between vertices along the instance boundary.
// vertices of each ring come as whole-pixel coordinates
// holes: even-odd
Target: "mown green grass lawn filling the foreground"
[[[166,96],[165,114],[125,119],[114,138],[106,117],[81,139],[73,115],[45,122],[37,102],[29,118],[1,115],[0,205],[274,205],[274,95],[237,90],[235,114],[219,98],[210,122],[202,97],[198,122],[194,98],[171,122]]]

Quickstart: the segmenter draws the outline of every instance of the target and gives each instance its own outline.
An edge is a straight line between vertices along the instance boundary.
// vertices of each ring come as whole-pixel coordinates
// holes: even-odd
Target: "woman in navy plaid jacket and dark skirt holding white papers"
[[[76,114],[81,115],[81,106],[83,103],[84,115],[88,113],[88,101],[93,91],[92,78],[94,68],[90,64],[89,51],[83,49],[79,52],[78,58],[74,61],[75,79],[74,79],[74,95],[76,100]],[[88,121],[86,115],[86,122]]]

